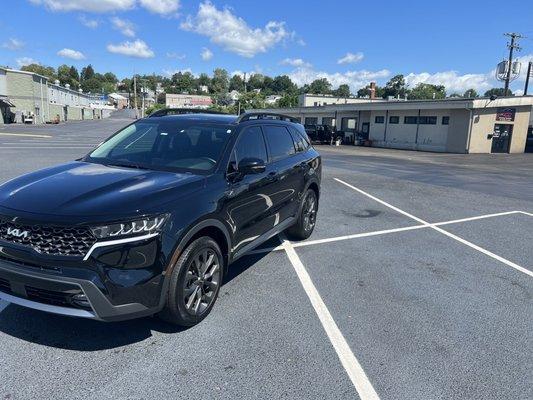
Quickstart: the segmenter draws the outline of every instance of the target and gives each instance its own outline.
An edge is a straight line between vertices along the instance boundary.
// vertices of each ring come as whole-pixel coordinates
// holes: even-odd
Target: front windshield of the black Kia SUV
[[[141,120],[106,140],[85,160],[132,168],[209,171],[232,132],[224,124]]]

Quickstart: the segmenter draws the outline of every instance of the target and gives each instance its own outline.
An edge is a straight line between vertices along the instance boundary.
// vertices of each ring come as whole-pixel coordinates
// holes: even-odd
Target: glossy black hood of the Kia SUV
[[[57,216],[137,215],[203,185],[202,176],[190,173],[71,162],[1,185],[0,207]]]

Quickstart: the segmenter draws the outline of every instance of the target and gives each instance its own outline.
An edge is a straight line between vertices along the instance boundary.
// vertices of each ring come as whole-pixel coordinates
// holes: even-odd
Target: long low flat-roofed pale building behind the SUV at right
[[[382,101],[264,109],[368,137],[373,146],[451,153],[523,153],[533,97]]]

